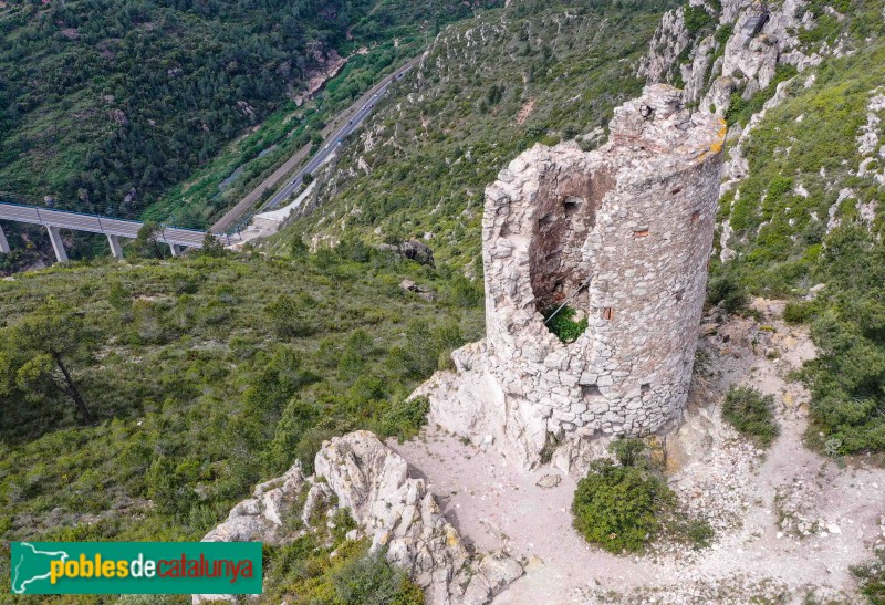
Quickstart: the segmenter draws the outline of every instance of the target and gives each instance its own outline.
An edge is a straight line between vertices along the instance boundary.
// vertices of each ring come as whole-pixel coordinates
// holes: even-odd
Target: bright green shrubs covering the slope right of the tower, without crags
[[[855,52],[798,76],[784,101],[751,131],[743,146],[748,176],[720,200],[736,255],[714,262],[710,291],[725,277],[748,293],[790,299],[784,319],[809,324],[819,351],[801,373],[812,395],[806,442],[831,456],[881,457],[885,188],[873,176],[858,175],[857,135],[873,91],[885,80],[885,23],[882,2],[841,1],[836,10],[845,19],[837,24],[825,19],[827,4],[836,8],[815,1],[809,10],[819,25],[837,27]],[[730,119],[743,123],[753,111],[736,105]],[[851,195],[840,202],[842,191]],[[877,207],[868,222],[857,210],[862,205]],[[831,211],[839,227],[827,225]],[[816,284],[826,286],[815,300],[804,300]]]

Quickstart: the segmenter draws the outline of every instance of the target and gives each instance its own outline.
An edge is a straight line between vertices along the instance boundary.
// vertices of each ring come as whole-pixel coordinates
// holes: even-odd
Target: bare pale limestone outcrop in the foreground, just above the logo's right
[[[522,575],[522,566],[502,552],[470,553],[424,480],[409,477],[406,461],[372,432],[324,442],[314,466],[315,476],[304,477],[296,463],[258,486],[204,541],[285,543],[313,531],[315,511],[332,517],[346,509],[356,533],[369,538],[373,550],[386,549],[387,560],[425,590],[427,603],[483,605]],[[291,518],[304,529],[288,533]],[[218,598],[232,601],[195,595],[194,603]]]

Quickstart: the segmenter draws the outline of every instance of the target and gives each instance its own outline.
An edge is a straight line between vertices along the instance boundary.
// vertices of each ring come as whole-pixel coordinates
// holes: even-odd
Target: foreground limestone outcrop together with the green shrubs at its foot
[[[282,552],[293,546],[303,552],[311,544],[320,552],[313,563],[330,567],[320,582],[299,578],[284,563],[274,565],[266,602],[326,603],[331,592],[335,603],[485,605],[522,575],[522,565],[501,551],[472,552],[425,480],[409,477],[415,472],[406,460],[373,434],[361,430],[325,441],[314,467],[316,473],[305,477],[296,462],[284,476],[257,486],[252,498],[204,538],[260,541]],[[369,544],[374,554],[366,552]],[[323,551],[332,547],[330,564]],[[394,577],[393,586],[385,586],[385,575]],[[195,595],[194,603],[212,598]]]

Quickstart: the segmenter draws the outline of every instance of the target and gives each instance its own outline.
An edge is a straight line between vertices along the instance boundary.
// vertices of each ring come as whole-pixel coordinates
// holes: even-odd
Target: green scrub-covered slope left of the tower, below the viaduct
[[[406,277],[435,300],[403,290]],[[323,439],[413,434],[426,407],[405,397],[479,337],[480,300],[458,275],[360,247],[95,261],[0,281],[4,549],[199,540],[257,481],[295,460],[310,472]],[[269,555],[268,598],[315,585],[335,563],[324,544]],[[312,571],[290,569],[316,553]]]

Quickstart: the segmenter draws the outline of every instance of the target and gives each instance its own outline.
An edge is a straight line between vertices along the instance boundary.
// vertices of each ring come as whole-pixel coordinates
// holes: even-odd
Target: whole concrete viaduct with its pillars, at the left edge
[[[42,225],[49,232],[52,241],[52,249],[59,262],[67,260],[67,252],[64,250],[61,229],[73,231],[88,231],[90,233],[103,233],[107,236],[111,244],[111,253],[115,258],[123,258],[123,247],[119,238],[135,239],[138,230],[144,223],[134,220],[114,219],[101,217],[98,215],[81,215],[64,210],[50,210],[35,206],[21,206],[18,204],[0,202],[0,220],[14,222],[28,222],[31,225]],[[202,239],[206,237],[204,231],[192,229],[178,229],[165,227],[159,233],[159,241],[168,243],[173,255],[177,257],[185,248],[202,248]],[[226,236],[220,236],[225,238]],[[8,254],[10,251],[9,241],[0,226],[0,252]]]

